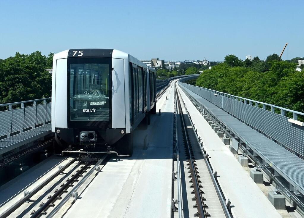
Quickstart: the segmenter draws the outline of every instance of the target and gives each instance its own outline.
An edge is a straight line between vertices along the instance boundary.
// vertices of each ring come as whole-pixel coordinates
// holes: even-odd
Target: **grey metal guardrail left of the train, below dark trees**
[[[8,110],[0,111],[0,137],[9,137],[13,133],[23,132],[23,130],[51,121],[50,100],[51,98],[41,98],[0,104],[0,107],[8,106]],[[41,104],[37,104],[40,102]],[[12,109],[14,105],[19,108]]]

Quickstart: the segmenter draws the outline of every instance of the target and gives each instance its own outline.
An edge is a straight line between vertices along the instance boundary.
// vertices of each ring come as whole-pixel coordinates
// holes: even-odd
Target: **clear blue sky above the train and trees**
[[[0,1],[0,58],[116,48],[138,59],[304,57],[304,1]]]

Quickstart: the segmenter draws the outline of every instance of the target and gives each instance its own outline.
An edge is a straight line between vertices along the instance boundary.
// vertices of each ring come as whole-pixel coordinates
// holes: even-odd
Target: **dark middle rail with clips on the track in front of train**
[[[64,190],[66,190],[69,187],[69,185],[73,183],[81,175],[81,173],[85,171],[85,169],[88,168],[89,165],[90,162],[87,162],[85,166],[83,166],[77,173],[75,173],[74,176],[71,179],[69,179],[57,192],[55,192],[54,195],[51,196],[46,203],[41,205],[40,208],[37,211],[35,211],[32,216],[30,216],[30,218],[40,217],[43,214],[43,212],[45,212],[50,207],[50,205],[55,200],[57,200],[57,197],[59,197],[62,193],[64,193]]]

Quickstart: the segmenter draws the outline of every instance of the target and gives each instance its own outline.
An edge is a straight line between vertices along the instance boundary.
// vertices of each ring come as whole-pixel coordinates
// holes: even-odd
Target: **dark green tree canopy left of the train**
[[[16,53],[0,60],[0,103],[26,101],[51,96],[52,76],[45,69],[52,68],[54,53],[48,57],[40,51],[32,54]]]

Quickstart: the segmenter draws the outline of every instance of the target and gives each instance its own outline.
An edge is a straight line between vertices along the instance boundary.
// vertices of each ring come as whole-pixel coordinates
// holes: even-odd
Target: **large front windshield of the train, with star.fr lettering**
[[[111,58],[69,58],[69,121],[110,121]]]

